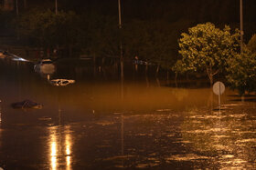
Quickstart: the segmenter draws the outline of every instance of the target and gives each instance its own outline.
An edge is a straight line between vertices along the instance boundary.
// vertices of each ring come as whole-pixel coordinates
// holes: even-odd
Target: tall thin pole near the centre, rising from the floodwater
[[[119,29],[121,35],[122,22],[121,22],[121,0],[118,0],[118,16],[119,16]],[[121,69],[121,97],[123,99],[123,46],[120,39],[120,69]]]

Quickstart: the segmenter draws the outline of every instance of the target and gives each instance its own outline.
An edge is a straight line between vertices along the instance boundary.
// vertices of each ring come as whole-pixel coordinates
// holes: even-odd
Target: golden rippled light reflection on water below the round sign
[[[251,165],[251,159],[255,159],[252,146],[256,142],[251,129],[255,125],[246,114],[228,111],[220,115],[198,111],[189,114],[181,127],[183,141],[190,144],[192,150],[214,156],[225,168]]]

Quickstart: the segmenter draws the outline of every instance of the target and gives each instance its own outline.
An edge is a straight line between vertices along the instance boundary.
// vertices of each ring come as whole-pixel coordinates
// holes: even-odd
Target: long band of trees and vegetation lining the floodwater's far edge
[[[174,73],[176,80],[178,75],[206,75],[210,85],[221,77],[240,94],[256,91],[256,35],[251,36],[256,29],[254,20],[249,16],[250,30],[245,40],[250,41],[240,53],[238,20],[231,10],[238,4],[230,4],[229,0],[221,4],[216,1],[202,4],[195,0],[193,5],[188,0],[156,4],[136,1],[136,5],[126,2],[122,29],[118,27],[117,6],[113,2],[99,5],[88,1],[81,6],[81,1],[72,5],[63,1],[58,14],[52,2],[40,3],[31,1],[30,7],[28,4],[19,15],[0,9],[4,25],[0,28],[1,36],[15,37],[18,45],[44,51],[62,50],[65,57],[110,57],[115,61],[120,57],[122,43],[124,60],[139,60],[146,65],[145,69],[154,65],[155,75],[159,70],[165,71],[167,77],[169,72]],[[148,3],[147,8],[143,8],[144,3]],[[229,10],[219,8],[223,4]],[[127,6],[137,8],[132,10]],[[253,5],[248,6],[254,10]],[[163,10],[166,7],[171,10]],[[181,11],[181,8],[186,9]],[[218,15],[213,12],[216,9]],[[223,18],[219,18],[221,14]]]

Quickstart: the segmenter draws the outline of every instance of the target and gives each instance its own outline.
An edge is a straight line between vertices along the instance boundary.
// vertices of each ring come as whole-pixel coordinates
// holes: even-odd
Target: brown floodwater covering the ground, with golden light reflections
[[[175,88],[144,76],[121,87],[103,68],[57,65],[49,78],[76,83],[50,85],[30,63],[0,61],[0,167],[256,168],[254,95],[241,100],[226,89],[219,109],[210,88]],[[11,107],[25,99],[43,108]]]

